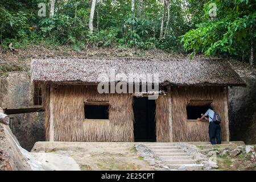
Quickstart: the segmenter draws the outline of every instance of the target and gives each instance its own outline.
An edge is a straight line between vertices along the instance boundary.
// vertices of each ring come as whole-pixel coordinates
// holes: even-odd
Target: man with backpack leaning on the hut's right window
[[[197,118],[197,120],[201,120],[201,119],[207,119],[209,120],[209,138],[210,138],[210,143],[212,144],[221,144],[221,127],[220,124],[213,122],[213,117],[214,117],[214,111],[213,111],[213,107],[212,105],[209,106],[209,109],[207,110],[207,112],[202,115],[201,118]],[[206,117],[209,117],[206,118]]]

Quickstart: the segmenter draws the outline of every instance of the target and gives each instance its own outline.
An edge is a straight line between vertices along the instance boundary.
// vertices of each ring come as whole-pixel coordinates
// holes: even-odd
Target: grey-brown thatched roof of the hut
[[[42,57],[31,63],[32,81],[56,84],[97,84],[101,73],[158,73],[162,84],[244,86],[236,72],[220,59],[145,59],[105,57]],[[117,80],[118,81],[118,80]]]

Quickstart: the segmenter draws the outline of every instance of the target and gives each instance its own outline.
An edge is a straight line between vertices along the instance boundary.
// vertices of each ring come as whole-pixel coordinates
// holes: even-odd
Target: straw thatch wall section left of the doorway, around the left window
[[[48,92],[45,91],[45,94]],[[133,142],[133,97],[130,94],[98,94],[96,86],[59,85],[51,93],[55,141]],[[86,100],[109,101],[108,121],[86,121]],[[49,139],[49,96],[44,100]]]

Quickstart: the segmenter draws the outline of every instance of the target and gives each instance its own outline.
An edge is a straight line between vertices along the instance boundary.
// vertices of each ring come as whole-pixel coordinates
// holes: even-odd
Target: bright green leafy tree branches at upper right
[[[186,51],[192,55],[233,55],[238,59],[249,57],[251,41],[255,40],[256,3],[249,0],[214,1],[217,17],[209,18],[209,1],[204,5],[204,15],[196,29],[181,36]]]

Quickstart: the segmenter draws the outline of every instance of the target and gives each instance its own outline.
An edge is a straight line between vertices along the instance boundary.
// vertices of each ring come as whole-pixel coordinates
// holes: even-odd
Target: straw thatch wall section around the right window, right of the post
[[[217,86],[174,86],[172,91],[172,135],[174,142],[209,141],[208,122],[188,122],[186,106],[189,100],[213,100],[214,110],[224,115],[226,92]],[[200,117],[200,116],[199,116]],[[226,119],[221,123],[221,138],[226,140]]]

